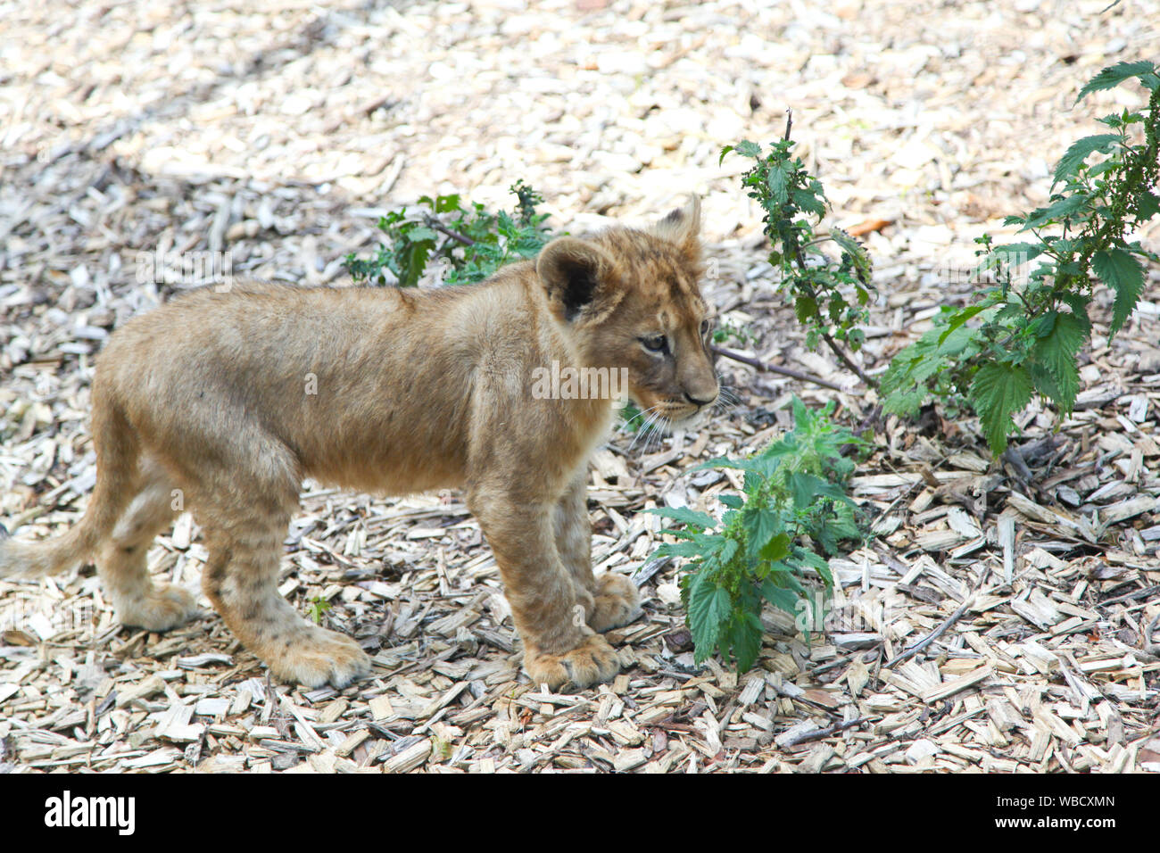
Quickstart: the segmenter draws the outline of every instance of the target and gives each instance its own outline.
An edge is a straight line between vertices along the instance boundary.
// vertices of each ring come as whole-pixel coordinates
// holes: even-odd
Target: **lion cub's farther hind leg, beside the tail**
[[[148,576],[148,547],[176,511],[173,482],[161,467],[146,457],[139,471],[137,496],[97,551],[96,570],[122,623],[166,631],[196,615],[197,603],[188,590]]]

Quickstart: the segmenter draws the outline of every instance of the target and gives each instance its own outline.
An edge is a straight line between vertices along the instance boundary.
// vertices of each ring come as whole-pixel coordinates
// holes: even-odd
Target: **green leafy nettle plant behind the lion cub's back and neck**
[[[498,214],[478,202],[464,208],[458,195],[425,195],[419,204],[427,210],[403,208],[378,221],[387,239],[374,258],[351,252],[343,266],[356,282],[379,285],[414,287],[430,263],[444,268],[444,284],[483,281],[505,263],[535,258],[554,236],[544,227],[548,214],[536,210],[543,197],[522,180],[510,191],[516,209]]]

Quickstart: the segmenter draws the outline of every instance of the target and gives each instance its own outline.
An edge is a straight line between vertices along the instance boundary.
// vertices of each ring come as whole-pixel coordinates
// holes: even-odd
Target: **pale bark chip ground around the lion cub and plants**
[[[271,684],[211,612],[123,629],[92,568],[0,581],[0,771],[1160,772],[1158,270],[1114,341],[1097,324],[1074,414],[1029,410],[1002,461],[972,419],[879,425],[854,479],[876,535],[834,563],[834,624],[807,644],[767,610],[740,678],[694,666],[680,566],[647,562],[661,521],[641,512],[719,511],[733,472],[689,469],[762,447],[792,393],[851,425],[876,403],[805,349],[723,145],[778,137],[793,109],[835,224],[876,260],[860,359],[879,373],[969,292],[944,273],[972,239],[1045,201],[1095,117],[1143,103],[1121,88],[1072,110],[1099,68],[1154,56],[1160,3],[261,6],[0,2],[0,519],[16,535],[84,509],[93,356],[186,283],[139,276],[150,258],[216,251],[235,274],[345,287],[342,256],[422,194],[494,207],[522,178],[578,232],[698,193],[706,292],[753,334],[733,348],[844,390],[722,361],[738,403],[703,432],[597,453],[596,569],[633,576],[645,613],[612,634],[623,674],[574,695],[521,673],[456,493],[304,496],[282,592],[374,656],[341,692]],[[196,587],[204,556],[187,515],[150,561]]]

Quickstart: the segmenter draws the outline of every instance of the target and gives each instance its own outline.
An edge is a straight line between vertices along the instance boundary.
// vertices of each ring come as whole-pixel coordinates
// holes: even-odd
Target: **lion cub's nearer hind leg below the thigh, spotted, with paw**
[[[347,636],[306,622],[277,590],[282,542],[297,506],[297,485],[233,478],[224,492],[200,496],[209,563],[202,588],[234,635],[281,680],[342,688],[369,674],[370,658]]]

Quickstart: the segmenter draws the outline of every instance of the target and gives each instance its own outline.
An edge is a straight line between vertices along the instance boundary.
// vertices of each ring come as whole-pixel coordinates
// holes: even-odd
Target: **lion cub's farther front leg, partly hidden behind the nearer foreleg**
[[[568,570],[585,621],[594,631],[619,628],[640,615],[636,585],[611,572],[592,572],[592,525],[588,521],[587,468],[573,479],[556,505],[556,548]]]

